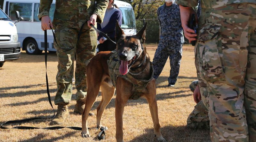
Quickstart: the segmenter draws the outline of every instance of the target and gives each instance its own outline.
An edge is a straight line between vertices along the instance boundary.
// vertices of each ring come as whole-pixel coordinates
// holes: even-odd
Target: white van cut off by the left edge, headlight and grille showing
[[[5,61],[17,60],[19,58],[20,42],[18,42],[16,26],[4,11],[0,9],[0,67],[4,65]]]

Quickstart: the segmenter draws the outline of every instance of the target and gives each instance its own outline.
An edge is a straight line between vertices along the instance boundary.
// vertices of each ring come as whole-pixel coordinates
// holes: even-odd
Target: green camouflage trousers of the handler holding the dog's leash
[[[96,54],[97,34],[95,30],[84,29],[77,42],[79,30],[65,26],[57,26],[55,30],[58,44],[54,43],[58,56],[56,76],[58,89],[54,99],[55,105],[69,104],[71,101],[74,60],[76,60],[75,85],[77,90],[75,99],[82,99],[87,94],[86,66]]]

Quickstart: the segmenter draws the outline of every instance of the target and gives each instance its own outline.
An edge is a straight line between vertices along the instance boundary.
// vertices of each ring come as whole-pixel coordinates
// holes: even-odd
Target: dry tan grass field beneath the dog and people
[[[156,45],[148,45],[147,51],[153,59]],[[48,54],[47,73],[52,103],[56,93],[55,76],[57,73],[56,54]],[[180,66],[180,74],[174,87],[167,87],[170,71],[169,59],[163,72],[156,80],[156,99],[158,115],[163,137],[168,142],[208,142],[209,132],[206,130],[189,130],[186,127],[187,117],[193,110],[195,102],[188,86],[196,79],[193,47],[184,46]],[[73,94],[76,88],[73,86]],[[115,142],[115,98],[108,104],[102,116],[102,124],[108,127],[106,139],[101,142]],[[99,95],[92,107],[96,114],[101,96]],[[53,112],[47,99],[45,83],[44,55],[27,55],[22,51],[21,58],[13,62],[5,62],[0,68],[0,123],[9,120],[31,117],[51,117]],[[68,105],[70,117],[64,126],[81,125],[81,116],[74,114],[74,95]],[[54,105],[54,109],[57,106]],[[124,141],[125,142],[156,142],[153,133],[153,122],[148,103],[145,99],[129,100],[124,108]],[[14,126],[49,127],[51,119],[37,120],[29,123],[18,123]],[[88,126],[96,126],[96,116],[88,118]],[[99,131],[89,130],[91,138],[82,138],[81,131],[71,129],[60,130],[17,130],[0,129],[1,142],[95,142]]]

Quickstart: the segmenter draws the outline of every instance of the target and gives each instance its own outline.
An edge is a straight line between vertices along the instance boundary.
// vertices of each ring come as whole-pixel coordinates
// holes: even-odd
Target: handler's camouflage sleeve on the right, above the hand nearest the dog
[[[93,13],[97,14],[97,23],[102,23],[107,7],[108,0],[96,0],[96,7]]]

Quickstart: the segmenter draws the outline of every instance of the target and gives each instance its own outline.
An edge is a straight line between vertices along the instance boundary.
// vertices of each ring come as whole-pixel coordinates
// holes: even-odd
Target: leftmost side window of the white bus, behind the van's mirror
[[[32,20],[32,3],[10,3],[9,17],[12,20],[16,19],[15,11],[20,12],[20,16],[24,18],[23,21]]]

